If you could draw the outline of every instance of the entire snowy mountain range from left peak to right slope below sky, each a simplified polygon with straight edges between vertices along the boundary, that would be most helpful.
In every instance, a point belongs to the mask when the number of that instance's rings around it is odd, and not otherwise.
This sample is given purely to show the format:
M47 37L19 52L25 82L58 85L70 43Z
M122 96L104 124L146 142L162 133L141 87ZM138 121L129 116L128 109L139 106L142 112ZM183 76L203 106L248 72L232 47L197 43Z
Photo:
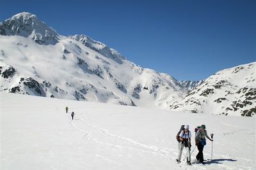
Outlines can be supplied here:
M0 23L0 43L0 91L214 115L256 112L255 62L178 81L89 36L61 36L26 12Z

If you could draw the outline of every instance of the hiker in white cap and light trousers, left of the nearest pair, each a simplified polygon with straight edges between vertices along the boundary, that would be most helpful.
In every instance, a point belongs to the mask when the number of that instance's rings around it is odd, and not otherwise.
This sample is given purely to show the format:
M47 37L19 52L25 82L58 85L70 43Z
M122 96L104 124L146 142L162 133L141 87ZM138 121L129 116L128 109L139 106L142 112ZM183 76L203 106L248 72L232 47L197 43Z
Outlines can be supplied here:
M191 148L191 132L188 130L189 125L184 126L184 130L180 132L179 135L179 155L176 161L180 163L181 155L182 155L182 150L185 146L186 152L187 152L187 164L191 165L191 155L190 155L190 148Z

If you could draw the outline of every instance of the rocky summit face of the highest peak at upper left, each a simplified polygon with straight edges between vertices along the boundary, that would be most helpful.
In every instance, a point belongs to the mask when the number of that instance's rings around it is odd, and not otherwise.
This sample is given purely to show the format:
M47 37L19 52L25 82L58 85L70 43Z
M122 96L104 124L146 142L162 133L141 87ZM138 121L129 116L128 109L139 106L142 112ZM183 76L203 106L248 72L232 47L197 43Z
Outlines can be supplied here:
M42 45L58 43L59 34L44 22L38 20L36 15L22 12L0 23L0 34L3 36L29 37Z

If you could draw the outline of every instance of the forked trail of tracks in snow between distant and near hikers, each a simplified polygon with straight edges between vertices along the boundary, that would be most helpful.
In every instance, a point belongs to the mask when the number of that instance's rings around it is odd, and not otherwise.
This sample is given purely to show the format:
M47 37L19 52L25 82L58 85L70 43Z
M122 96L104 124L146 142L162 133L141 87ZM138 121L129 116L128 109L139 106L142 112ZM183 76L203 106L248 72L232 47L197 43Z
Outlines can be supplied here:
M147 145L144 145L142 143L138 143L136 141L133 141L132 139L124 138L122 136L118 136L116 134L112 134L107 129L104 129L104 128L102 128L100 126L97 126L97 125L90 124L89 122L84 120L84 118L81 118L81 117L78 117L78 116L76 116L76 117L78 119L74 119L74 120L81 120L83 122L83 124L85 124L85 125L87 125L89 127L92 127L94 129L97 129L97 130L103 132L104 134L107 134L111 138L122 139L122 140L128 141L129 143L132 143L134 145L138 145L138 146L141 146L143 148L146 148L146 149L149 149L149 150L153 150L153 152L152 151L143 150L143 149L139 149L139 148L125 147L125 146L120 146L120 145L113 145L111 143L104 143L104 142L100 141L99 139L92 138L92 133L90 133L88 131L84 131L83 129L77 127L77 125L74 124L74 121L70 120L70 124L72 125L72 127L74 127L77 131L80 131L80 132L84 133L84 138L88 139L89 141L93 141L94 143L99 143L101 145L107 145L107 146L115 147L115 148L118 148L118 149L136 150L136 151L144 152L144 153L152 153L154 155L159 155L161 157L170 159L170 155L168 155L169 151L164 150L163 148L157 148L156 146L147 146Z

